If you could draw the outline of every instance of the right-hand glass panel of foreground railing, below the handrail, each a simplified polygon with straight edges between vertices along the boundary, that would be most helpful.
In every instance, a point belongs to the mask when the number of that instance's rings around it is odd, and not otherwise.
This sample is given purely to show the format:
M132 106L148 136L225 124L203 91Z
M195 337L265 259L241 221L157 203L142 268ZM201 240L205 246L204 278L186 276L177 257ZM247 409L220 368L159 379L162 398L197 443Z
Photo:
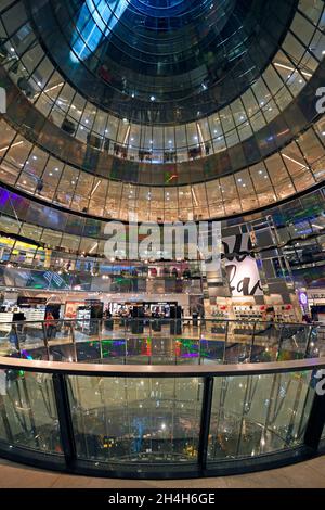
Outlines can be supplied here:
M301 445L314 393L311 373L214 378L208 461Z

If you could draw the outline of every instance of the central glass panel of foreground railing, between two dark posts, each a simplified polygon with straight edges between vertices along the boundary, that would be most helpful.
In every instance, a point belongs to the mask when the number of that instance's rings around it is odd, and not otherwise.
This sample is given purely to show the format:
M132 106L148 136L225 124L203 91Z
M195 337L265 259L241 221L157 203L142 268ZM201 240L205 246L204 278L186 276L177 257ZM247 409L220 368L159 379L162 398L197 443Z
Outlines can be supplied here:
M69 375L77 456L135 462L195 462L200 379Z

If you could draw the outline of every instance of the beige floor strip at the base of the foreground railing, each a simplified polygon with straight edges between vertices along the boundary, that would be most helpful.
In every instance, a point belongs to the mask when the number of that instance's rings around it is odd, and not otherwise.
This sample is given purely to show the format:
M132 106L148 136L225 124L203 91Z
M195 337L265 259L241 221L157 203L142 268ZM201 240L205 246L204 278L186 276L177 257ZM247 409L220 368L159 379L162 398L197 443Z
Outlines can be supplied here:
M0 460L0 488L324 488L325 457L286 468L218 479L140 481L92 479Z

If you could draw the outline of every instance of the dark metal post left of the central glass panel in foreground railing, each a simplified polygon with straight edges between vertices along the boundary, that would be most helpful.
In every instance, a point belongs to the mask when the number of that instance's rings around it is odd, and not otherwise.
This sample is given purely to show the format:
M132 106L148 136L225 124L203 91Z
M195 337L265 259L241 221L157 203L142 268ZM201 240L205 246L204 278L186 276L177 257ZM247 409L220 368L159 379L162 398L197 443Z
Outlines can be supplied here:
M67 383L64 374L53 373L53 388L63 452L67 467L72 467L77 458L77 450Z

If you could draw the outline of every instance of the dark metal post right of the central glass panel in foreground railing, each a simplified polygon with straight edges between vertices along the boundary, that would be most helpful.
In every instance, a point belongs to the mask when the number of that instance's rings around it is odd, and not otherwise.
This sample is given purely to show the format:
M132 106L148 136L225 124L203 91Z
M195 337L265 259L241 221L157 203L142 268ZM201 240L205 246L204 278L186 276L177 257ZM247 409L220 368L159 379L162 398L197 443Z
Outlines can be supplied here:
M197 462L199 470L204 472L207 468L208 442L210 432L211 407L213 397L213 378L208 375L205 379L203 407L200 416L199 442Z

